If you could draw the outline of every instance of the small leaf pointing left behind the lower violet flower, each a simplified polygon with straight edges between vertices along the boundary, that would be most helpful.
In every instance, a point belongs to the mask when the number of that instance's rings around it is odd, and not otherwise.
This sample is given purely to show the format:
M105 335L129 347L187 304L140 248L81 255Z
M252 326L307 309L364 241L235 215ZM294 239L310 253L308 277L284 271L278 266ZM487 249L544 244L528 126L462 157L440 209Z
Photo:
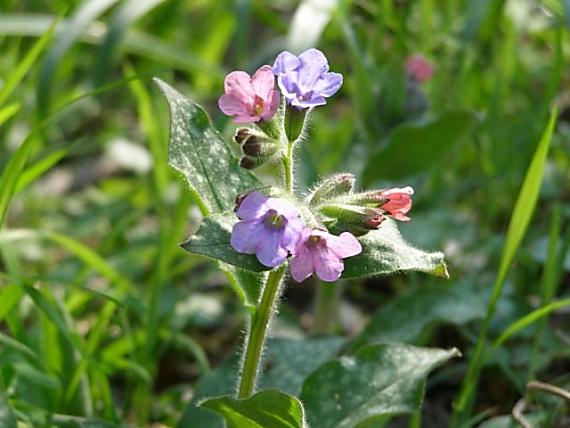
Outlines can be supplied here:
M254 255L238 253L230 245L232 226L237 220L234 213L206 217L196 234L182 244L182 248L189 253L201 254L254 272L269 270Z

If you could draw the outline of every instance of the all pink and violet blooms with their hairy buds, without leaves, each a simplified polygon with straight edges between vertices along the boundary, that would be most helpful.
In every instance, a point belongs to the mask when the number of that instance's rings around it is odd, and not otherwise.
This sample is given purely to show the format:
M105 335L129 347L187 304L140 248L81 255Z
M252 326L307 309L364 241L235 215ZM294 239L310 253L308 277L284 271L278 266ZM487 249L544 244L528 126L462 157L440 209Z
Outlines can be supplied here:
M287 108L272 122L280 103L276 82ZM326 57L317 49L299 56L282 52L272 67L264 65L252 77L243 71L228 74L225 94L218 101L220 109L236 123L256 123L260 128L236 131L234 140L244 154L240 165L251 169L268 159L287 156L282 144L294 140L288 135L289 127L285 131L287 115L306 121L308 116L302 111L326 104L342 82L342 75L329 71ZM324 180L305 201L305 210L289 199L267 197L259 191L239 198L232 248L254 254L269 268L291 257L291 276L297 282L313 274L323 281L337 280L344 270L343 260L363 250L355 235L380 228L385 216L409 220L412 206L411 187L354 194L354 182L351 174Z

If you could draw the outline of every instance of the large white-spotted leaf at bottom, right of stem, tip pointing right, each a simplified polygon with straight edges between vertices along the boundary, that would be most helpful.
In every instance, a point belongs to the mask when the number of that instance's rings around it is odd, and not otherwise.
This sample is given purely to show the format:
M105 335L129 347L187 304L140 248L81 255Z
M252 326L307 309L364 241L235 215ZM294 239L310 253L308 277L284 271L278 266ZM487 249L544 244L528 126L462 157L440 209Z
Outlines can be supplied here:
M382 415L413 413L428 373L459 355L455 348L369 345L330 361L303 384L307 420L319 428L353 428Z

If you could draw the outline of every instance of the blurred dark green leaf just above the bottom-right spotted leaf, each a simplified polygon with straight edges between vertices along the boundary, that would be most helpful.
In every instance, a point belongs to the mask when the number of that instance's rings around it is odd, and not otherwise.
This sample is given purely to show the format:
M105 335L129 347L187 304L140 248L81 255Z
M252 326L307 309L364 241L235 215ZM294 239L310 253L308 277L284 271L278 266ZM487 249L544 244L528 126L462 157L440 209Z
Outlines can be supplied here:
M470 282L412 290L381 307L352 349L364 343L415 341L435 323L465 324L483 317L487 295Z

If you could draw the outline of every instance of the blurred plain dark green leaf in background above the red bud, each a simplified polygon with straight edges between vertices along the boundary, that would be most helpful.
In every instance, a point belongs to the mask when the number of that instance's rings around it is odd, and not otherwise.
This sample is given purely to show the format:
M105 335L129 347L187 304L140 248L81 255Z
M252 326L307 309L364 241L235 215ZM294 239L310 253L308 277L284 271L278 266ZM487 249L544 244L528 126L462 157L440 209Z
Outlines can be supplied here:
M396 180L427 170L440 162L474 123L472 113L450 111L427 123L399 126L388 137L387 146L370 157L364 182Z

